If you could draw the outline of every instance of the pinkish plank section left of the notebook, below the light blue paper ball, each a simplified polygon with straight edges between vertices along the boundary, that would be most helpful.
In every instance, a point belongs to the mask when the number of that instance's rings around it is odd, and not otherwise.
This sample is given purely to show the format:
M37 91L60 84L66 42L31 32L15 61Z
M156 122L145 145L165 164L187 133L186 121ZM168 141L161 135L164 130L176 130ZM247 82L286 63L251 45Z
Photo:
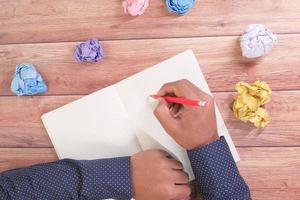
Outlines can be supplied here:
M0 97L0 147L52 147L40 117L80 97Z

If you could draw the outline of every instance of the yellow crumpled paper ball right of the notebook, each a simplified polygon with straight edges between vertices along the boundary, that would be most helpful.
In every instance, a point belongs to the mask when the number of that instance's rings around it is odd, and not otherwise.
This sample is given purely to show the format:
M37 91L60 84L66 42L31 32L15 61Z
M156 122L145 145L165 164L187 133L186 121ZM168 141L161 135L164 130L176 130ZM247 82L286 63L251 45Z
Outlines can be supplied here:
M262 107L271 100L272 95L272 90L266 82L255 81L248 84L241 81L236 84L235 89L237 98L232 108L235 117L260 128L270 123L270 116Z

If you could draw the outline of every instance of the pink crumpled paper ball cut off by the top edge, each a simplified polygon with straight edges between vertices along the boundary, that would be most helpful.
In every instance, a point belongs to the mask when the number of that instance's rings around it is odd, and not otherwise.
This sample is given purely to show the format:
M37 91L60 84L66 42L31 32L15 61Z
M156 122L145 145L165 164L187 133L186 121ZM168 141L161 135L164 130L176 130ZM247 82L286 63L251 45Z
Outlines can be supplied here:
M137 16L144 14L149 6L149 0L124 0L122 5L125 14Z

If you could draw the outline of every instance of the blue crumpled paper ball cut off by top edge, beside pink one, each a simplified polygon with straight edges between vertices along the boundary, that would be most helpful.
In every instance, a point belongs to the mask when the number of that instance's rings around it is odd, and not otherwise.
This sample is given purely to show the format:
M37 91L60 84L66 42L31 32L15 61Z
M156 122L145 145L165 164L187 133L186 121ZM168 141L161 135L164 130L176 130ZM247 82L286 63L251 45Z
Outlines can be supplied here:
M166 0L167 8L172 13L186 14L195 4L196 0Z

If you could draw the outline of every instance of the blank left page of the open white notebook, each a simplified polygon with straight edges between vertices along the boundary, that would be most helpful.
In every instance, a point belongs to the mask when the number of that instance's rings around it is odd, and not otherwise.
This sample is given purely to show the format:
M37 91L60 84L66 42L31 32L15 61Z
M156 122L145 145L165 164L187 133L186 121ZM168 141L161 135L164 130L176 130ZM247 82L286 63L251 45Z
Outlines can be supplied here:
M60 159L98 159L139 152L135 132L114 87L42 116Z

